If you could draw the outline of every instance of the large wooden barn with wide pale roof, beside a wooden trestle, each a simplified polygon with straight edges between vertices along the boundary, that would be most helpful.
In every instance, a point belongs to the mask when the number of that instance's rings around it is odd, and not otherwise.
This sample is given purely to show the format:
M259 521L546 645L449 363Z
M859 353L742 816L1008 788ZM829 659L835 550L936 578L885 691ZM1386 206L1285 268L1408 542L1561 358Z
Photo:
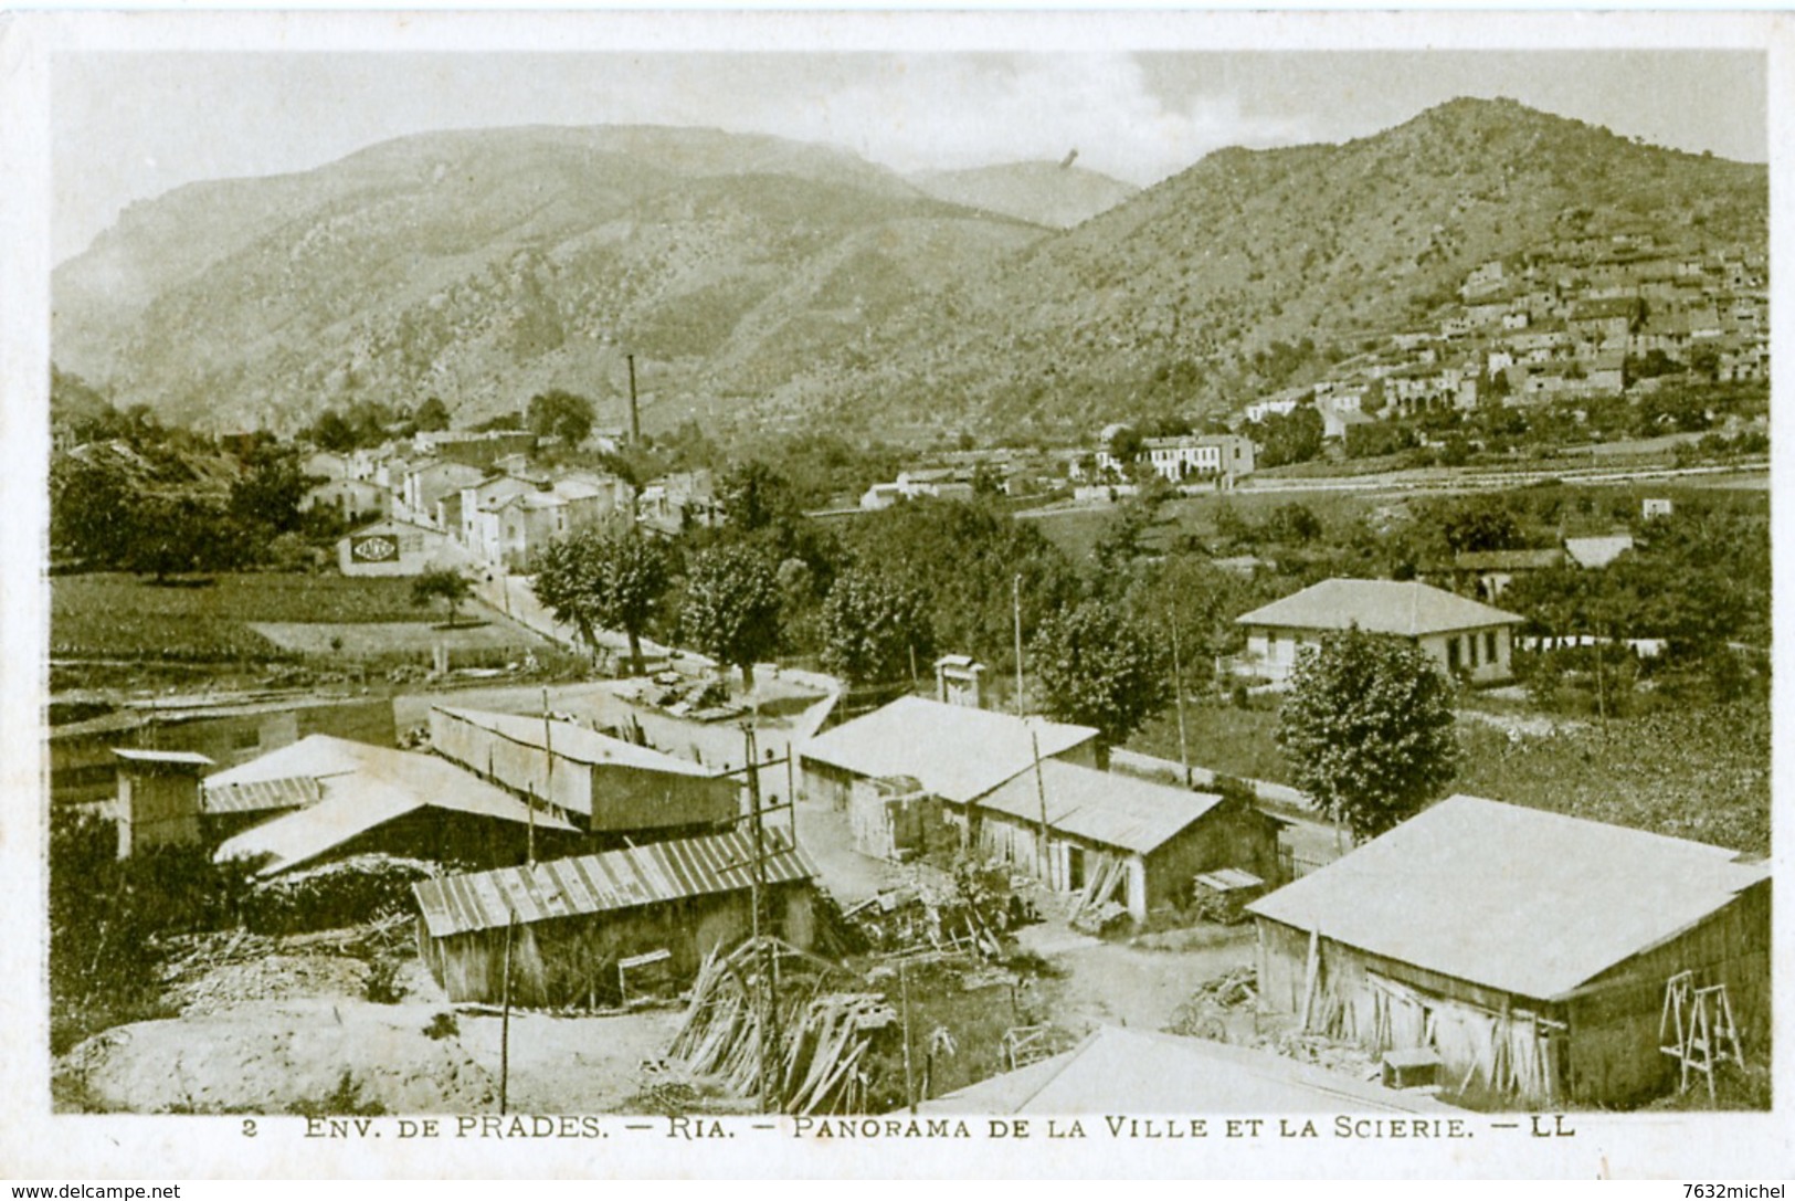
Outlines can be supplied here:
M1519 1104L1669 1088L1682 973L1770 1038L1770 869L1700 842L1458 795L1248 910L1262 1009Z

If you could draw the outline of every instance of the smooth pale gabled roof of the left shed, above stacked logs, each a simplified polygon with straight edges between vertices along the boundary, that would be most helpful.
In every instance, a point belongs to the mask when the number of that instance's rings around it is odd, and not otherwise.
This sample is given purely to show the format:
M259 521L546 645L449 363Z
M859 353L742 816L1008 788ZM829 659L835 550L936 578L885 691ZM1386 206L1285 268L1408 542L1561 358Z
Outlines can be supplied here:
M296 770L298 765L312 770ZM260 874L271 876L422 808L574 831L565 819L542 810L531 815L517 797L436 756L370 747L330 734L311 734L291 747L219 772L206 779L206 788L294 776L318 781L323 799L226 838L217 849L219 862L266 856Z

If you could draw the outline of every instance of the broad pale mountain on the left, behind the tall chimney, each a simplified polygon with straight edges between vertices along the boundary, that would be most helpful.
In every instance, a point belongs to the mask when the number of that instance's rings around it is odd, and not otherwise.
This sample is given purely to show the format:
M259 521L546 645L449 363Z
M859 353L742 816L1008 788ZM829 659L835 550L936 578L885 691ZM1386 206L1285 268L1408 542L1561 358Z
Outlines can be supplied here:
M133 205L54 273L52 346L120 406L214 429L429 395L465 424L553 386L621 418L634 352L671 420L1043 235L781 138L433 133Z

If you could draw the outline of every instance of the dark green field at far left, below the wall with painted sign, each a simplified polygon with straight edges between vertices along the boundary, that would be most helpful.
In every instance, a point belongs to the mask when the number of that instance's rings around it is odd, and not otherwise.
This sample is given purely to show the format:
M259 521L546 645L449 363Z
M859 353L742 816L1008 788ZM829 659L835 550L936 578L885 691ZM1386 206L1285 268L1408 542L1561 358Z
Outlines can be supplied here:
M158 587L129 574L50 580L52 657L214 662L280 659L253 621L386 623L436 614L411 605L409 580L221 574Z

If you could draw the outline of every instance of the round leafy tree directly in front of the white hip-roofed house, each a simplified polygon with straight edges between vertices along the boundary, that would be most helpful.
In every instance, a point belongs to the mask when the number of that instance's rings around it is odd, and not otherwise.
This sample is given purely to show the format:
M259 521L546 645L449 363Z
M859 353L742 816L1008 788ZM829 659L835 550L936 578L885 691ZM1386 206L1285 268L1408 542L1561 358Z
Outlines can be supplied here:
M1296 785L1355 840L1413 817L1458 774L1447 679L1413 643L1359 628L1298 655L1276 740Z

